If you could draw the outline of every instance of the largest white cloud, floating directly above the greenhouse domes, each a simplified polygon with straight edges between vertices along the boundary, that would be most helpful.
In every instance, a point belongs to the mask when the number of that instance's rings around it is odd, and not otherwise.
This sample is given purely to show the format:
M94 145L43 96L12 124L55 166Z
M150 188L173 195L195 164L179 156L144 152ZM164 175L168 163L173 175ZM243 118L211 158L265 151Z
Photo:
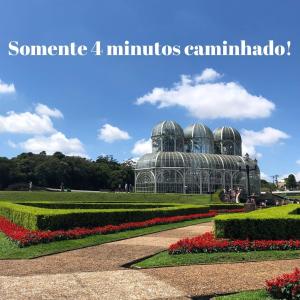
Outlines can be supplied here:
M275 109L270 100L250 94L236 82L208 82L220 78L213 69L196 76L181 76L171 88L154 88L138 98L137 105L150 103L158 108L179 106L193 117L204 119L256 119L269 117Z

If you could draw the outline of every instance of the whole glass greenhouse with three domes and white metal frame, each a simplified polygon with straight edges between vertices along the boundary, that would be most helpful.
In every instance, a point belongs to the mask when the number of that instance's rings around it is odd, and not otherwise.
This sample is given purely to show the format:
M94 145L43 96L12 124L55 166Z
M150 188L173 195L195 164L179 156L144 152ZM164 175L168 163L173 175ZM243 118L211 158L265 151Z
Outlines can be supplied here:
M152 130L152 153L135 168L136 192L211 193L218 189L260 193L257 161L241 156L242 139L231 127L214 133L203 124L184 131L176 122L164 121Z

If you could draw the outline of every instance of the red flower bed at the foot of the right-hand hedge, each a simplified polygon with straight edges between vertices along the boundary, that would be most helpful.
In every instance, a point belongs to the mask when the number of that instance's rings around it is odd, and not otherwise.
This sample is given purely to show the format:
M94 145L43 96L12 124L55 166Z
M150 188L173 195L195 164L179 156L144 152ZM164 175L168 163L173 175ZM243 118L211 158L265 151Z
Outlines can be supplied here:
M170 245L169 254L212 253L212 252L247 252L262 250L300 249L300 240L225 240L215 239L207 232L193 238L186 238Z

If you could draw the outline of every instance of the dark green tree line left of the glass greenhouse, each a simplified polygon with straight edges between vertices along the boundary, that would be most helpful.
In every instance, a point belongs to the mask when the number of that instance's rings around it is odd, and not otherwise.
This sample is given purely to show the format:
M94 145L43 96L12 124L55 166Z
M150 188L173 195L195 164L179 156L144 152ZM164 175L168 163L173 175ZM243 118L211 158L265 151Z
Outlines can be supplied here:
M65 188L117 190L134 184L132 161L118 162L112 156L90 160L66 156L61 152L47 155L22 153L13 158L0 157L0 189Z

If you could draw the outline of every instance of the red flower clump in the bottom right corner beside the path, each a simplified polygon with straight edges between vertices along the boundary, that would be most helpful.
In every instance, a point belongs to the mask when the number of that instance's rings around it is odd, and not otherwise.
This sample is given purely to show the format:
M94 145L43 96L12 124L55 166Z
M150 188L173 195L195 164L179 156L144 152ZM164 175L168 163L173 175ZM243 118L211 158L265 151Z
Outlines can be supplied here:
M296 268L293 273L267 280L266 285L267 291L275 299L300 299L300 269Z

